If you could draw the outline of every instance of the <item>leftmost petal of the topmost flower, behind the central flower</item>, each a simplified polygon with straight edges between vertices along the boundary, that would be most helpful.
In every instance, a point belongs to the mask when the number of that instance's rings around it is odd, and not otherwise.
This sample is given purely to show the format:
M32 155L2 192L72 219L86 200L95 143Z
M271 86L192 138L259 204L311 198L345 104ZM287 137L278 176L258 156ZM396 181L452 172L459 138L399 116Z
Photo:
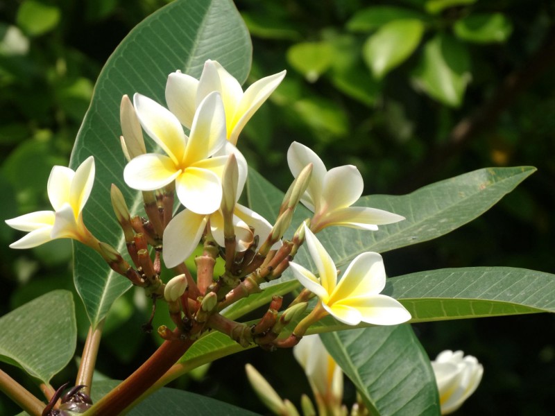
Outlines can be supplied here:
M166 103L182 125L191 128L196 110L198 80L185 73L172 72L166 83Z

